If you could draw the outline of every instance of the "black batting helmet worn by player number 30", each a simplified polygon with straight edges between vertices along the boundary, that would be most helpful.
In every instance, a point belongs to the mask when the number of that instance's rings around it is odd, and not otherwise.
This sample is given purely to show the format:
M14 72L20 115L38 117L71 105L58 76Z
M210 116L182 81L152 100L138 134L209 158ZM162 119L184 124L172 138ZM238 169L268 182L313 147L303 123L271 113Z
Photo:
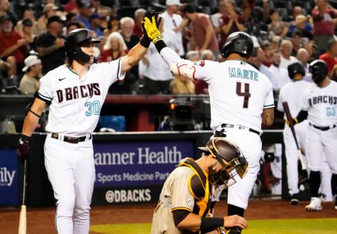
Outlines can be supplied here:
M90 56L81 50L81 46L88 43L97 44L100 43L100 41L93 38L93 34L90 30L72 30L65 38L65 51L67 52L67 56L71 60L74 59L80 63L88 63Z

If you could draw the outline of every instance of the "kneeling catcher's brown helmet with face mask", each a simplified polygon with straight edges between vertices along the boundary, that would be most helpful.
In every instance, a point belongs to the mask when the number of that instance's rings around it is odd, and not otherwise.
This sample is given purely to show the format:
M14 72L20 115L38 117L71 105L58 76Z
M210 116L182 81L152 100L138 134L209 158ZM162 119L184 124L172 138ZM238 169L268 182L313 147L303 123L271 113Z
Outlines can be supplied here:
M209 182L214 185L225 185L228 187L235 183L234 176L237 174L243 178L247 172L248 162L242 155L239 147L224 137L214 137L206 143L206 147L199 147L199 150L211 154L220 162L223 169L209 178Z

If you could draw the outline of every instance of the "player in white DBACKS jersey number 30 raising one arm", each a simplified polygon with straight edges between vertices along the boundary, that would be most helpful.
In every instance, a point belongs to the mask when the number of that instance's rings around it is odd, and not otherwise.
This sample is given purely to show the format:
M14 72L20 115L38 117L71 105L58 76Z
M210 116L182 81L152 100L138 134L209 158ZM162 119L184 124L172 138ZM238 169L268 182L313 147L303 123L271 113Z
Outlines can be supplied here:
M40 79L18 142L18 157L25 160L29 138L44 108L49 106L45 166L56 200L58 233L89 233L90 204L95 181L94 131L109 86L145 55L150 40L143 37L128 55L109 63L93 64L91 31L73 30L65 39L68 63Z

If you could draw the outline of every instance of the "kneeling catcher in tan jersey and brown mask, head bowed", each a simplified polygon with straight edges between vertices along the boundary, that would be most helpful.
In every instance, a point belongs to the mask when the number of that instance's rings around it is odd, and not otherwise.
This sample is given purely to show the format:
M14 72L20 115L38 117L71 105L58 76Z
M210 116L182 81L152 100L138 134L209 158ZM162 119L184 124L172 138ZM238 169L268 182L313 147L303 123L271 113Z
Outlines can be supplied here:
M227 233L225 228L247 228L242 216L212 217L211 192L235 183L248 163L237 145L212 138L198 160L185 158L166 179L152 219L152 234Z

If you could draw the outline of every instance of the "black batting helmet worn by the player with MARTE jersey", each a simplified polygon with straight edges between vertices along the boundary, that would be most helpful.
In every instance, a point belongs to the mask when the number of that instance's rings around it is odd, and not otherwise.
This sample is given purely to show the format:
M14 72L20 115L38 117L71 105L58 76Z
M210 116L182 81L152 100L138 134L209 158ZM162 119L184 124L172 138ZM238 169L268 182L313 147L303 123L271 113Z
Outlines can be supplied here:
M233 32L225 44L221 47L221 55L227 58L231 53L238 53L242 57L249 58L253 53L253 39L246 32Z

